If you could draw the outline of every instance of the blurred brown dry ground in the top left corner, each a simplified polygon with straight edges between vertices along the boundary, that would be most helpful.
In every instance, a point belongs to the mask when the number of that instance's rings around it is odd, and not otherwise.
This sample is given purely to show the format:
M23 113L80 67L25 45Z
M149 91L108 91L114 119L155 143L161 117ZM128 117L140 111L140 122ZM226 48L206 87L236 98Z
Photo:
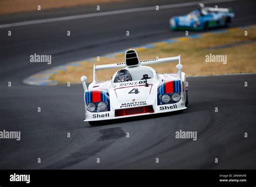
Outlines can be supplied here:
M122 0L1 0L0 14L36 11L38 5L41 6L41 10L45 10L117 1Z

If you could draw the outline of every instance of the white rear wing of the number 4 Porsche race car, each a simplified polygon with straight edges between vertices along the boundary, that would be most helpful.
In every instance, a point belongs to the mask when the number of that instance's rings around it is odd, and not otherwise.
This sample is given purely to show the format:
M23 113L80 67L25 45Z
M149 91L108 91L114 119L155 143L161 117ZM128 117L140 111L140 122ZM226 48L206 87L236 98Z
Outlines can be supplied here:
M181 80L181 69L183 66L181 65L181 57L179 56L173 56L173 57L166 57L162 59L151 59L151 60L141 60L140 65L146 66L150 64L157 64L157 63L165 63L165 62L175 62L178 61L176 68L179 71L179 79ZM96 71L97 70L103 70L103 69L112 69L112 68L125 68L126 64L125 62L120 63L112 63L112 64L105 64L105 65L98 65L93 67L93 81L96 82Z

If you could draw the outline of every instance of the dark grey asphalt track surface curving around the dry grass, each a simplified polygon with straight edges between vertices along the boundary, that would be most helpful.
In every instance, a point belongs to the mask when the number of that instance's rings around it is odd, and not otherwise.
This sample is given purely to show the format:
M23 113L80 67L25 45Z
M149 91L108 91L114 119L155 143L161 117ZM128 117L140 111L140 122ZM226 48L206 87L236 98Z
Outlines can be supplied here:
M103 7L115 10L154 4L142 1ZM255 1L218 5L233 8L236 18L231 26L255 24ZM183 113L102 126L83 121L82 85L22 83L37 71L65 62L182 36L183 32L169 30L169 18L193 9L190 6L0 29L1 131L21 131L21 141L0 140L0 169L256 169L255 74L188 78L190 104ZM31 14L34 19L42 19L84 10L90 13L92 8ZM29 13L23 15L2 16L0 21L4 24L31 19ZM12 37L6 36L9 30ZM71 37L66 37L68 30ZM130 37L126 37L126 31L130 31ZM33 53L52 54L52 64L31 64L29 55ZM12 87L7 86L9 81ZM41 107L40 113L37 107ZM197 131L197 141L176 139L179 130ZM245 132L248 138L244 138ZM38 157L41 163L37 163ZM214 163L216 157L219 163ZM96 163L97 158L100 163Z

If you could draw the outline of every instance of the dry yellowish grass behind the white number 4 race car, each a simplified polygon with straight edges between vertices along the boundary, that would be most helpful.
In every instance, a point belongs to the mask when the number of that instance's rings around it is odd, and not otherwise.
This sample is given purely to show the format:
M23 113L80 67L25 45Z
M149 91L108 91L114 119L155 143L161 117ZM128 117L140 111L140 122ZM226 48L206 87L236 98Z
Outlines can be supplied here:
M169 57L181 54L181 63L186 75L214 75L226 73L247 73L256 72L256 45L250 44L235 45L227 48L208 49L208 47L232 44L241 41L255 41L256 26L247 29L248 36L244 36L241 28L233 29L227 33L209 34L205 37L183 40L173 44L164 44L159 47L138 51L140 60L154 59L156 56ZM227 55L227 64L207 63L205 56L210 53L215 55ZM95 59L96 60L96 59ZM102 57L99 62L84 62L83 66L70 67L67 71L52 76L52 80L61 83L79 83L80 77L86 75L88 82L92 81L93 64L108 64L124 61L124 54L117 57ZM163 63L152 65L159 73L176 72L176 63ZM99 80L109 80L117 69L97 71Z

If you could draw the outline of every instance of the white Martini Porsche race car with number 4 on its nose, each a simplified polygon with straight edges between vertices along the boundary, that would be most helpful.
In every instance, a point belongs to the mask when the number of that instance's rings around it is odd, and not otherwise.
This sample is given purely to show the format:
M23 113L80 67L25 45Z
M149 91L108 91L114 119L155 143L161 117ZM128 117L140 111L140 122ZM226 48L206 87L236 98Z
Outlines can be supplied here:
M160 74L145 66L173 61L179 62L177 73ZM96 71L111 68L120 70L114 73L112 80L97 82ZM93 82L88 88L87 77L81 77L85 102L84 121L95 125L102 120L186 109L186 76L182 68L180 55L139 61L134 49L125 52L125 62L94 66Z

